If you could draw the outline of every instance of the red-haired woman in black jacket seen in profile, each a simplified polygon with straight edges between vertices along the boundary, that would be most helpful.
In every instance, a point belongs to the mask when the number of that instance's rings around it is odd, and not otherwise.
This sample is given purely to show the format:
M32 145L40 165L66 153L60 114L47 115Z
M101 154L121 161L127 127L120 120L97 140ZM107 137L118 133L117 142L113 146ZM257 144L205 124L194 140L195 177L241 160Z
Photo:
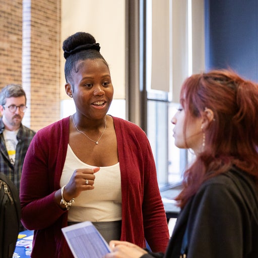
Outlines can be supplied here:
M192 149L165 254L110 241L105 258L258 257L258 86L235 72L192 75L180 92L175 145Z

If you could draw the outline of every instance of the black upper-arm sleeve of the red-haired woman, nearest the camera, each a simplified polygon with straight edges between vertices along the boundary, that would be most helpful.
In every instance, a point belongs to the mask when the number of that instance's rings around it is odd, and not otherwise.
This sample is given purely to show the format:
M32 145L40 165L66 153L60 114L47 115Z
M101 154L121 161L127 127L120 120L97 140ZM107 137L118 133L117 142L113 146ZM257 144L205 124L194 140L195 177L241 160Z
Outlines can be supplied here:
M211 184L197 194L192 208L187 257L241 258L242 214L247 212L237 193L224 184Z

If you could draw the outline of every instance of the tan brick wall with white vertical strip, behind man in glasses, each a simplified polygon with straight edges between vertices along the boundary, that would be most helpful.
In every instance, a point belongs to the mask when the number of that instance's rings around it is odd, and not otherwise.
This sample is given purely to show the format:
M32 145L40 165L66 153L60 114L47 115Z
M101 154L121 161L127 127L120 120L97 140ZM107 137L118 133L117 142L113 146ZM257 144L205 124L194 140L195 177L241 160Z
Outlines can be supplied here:
M60 115L60 0L0 0L0 87L22 84L33 130Z

